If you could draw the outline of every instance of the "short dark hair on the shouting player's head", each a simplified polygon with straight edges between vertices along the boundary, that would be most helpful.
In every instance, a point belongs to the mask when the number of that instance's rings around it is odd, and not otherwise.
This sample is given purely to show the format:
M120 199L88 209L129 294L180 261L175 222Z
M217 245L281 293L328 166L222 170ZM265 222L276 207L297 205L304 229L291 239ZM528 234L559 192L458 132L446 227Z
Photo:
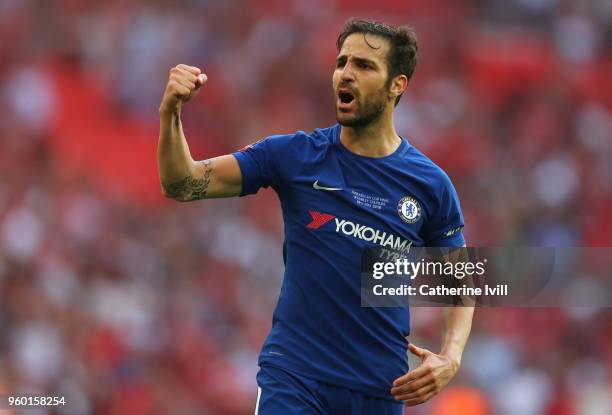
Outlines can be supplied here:
M414 68L418 61L417 38L414 30L409 26L393 27L382 22L371 22L360 19L350 19L346 22L344 30L338 36L336 47L338 51L349 35L353 33L370 33L387 39L390 43L389 54L387 55L387 67L389 76L387 85L397 75L406 75L408 80L412 78ZM399 102L401 95L395 99L395 105Z

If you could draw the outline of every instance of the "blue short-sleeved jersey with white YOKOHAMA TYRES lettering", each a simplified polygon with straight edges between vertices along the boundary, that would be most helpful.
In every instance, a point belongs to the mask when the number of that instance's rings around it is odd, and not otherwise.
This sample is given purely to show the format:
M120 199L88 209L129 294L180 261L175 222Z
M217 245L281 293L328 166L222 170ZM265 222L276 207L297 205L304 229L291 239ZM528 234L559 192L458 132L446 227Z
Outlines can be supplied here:
M448 176L408 141L386 157L360 156L340 128L234 153L241 195L271 186L285 223L285 275L259 364L392 400L408 370L409 313L361 307L362 252L462 246L463 216Z

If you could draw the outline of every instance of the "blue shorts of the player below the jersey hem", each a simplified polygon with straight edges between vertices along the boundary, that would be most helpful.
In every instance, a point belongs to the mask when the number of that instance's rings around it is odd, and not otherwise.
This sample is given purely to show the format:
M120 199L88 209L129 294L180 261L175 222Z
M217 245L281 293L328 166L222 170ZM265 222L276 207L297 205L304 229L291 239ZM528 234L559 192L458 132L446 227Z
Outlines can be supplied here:
M401 415L402 402L374 398L274 366L257 374L255 415Z

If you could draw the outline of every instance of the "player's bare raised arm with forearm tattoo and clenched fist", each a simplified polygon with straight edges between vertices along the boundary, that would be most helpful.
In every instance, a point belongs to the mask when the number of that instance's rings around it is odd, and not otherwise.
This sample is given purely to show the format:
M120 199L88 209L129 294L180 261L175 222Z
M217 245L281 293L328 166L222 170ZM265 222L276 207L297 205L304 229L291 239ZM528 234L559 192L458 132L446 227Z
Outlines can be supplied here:
M238 196L242 174L232 155L194 161L181 125L181 109L206 82L199 68L178 65L170 76L159 107L157 168L166 197L191 200Z

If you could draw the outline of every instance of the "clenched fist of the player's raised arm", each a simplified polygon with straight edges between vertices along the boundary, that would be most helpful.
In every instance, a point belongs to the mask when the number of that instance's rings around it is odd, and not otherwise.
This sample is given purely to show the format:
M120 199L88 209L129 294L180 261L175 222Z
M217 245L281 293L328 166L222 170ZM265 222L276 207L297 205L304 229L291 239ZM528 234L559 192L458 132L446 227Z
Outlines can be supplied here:
M181 64L170 69L160 111L174 112L179 109L183 102L196 96L207 79L200 68L195 66Z

